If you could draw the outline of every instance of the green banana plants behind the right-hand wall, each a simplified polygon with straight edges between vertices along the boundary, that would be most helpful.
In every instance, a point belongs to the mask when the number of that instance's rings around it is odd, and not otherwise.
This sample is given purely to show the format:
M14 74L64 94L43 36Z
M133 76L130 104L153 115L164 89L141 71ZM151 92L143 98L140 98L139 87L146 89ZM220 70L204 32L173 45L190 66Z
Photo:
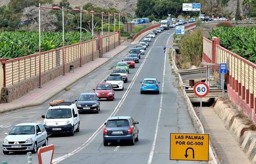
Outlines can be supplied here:
M239 56L256 63L256 27L217 27L209 32L220 38L220 45Z

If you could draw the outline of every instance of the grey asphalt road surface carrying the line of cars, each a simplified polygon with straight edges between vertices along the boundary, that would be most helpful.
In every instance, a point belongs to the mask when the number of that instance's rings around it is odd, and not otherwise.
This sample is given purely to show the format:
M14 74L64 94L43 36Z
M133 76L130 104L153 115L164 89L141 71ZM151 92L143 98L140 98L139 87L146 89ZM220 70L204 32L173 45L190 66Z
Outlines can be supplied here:
M150 46L141 55L140 63L130 68L128 82L124 91L115 91L114 101L101 101L99 114L79 114L80 131L74 136L49 136L49 144L55 145L53 162L55 164L167 164L169 160L170 132L196 133L191 123L187 105L178 93L171 74L168 54L163 53L163 46L171 47L175 30L165 30L151 39ZM167 44L168 41L168 44ZM134 47L134 45L128 45ZM96 84L103 81L113 66L127 56L128 51L119 54L104 66L70 86L70 91L63 91L53 99L75 100L80 93L93 92ZM140 81L143 78L157 78L160 81L160 94L140 94ZM13 125L23 122L43 123L41 115L46 113L47 102L40 106L23 108L0 114L0 142L5 132ZM132 116L140 124L139 141L134 146L127 144L103 145L103 125L110 116ZM2 144L0 145L2 148ZM33 164L38 163L37 155L32 154ZM26 164L26 153L0 153L0 162L8 164ZM198 163L182 161L182 164Z

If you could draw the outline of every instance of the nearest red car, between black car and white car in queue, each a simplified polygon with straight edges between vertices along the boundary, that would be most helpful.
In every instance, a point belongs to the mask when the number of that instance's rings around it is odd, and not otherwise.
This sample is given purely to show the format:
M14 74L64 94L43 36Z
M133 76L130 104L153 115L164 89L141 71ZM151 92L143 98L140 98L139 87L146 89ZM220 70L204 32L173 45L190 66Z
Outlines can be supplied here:
M115 92L111 83L99 83L95 89L93 89L100 100L114 100Z

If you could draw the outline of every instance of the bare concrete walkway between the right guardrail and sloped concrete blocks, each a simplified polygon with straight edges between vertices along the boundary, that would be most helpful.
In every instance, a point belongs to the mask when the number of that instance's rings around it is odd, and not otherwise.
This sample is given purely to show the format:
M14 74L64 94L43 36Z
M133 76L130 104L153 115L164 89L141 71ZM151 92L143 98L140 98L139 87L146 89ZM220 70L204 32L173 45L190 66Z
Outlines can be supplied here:
M250 164L249 159L213 108L202 108L202 123L222 164Z

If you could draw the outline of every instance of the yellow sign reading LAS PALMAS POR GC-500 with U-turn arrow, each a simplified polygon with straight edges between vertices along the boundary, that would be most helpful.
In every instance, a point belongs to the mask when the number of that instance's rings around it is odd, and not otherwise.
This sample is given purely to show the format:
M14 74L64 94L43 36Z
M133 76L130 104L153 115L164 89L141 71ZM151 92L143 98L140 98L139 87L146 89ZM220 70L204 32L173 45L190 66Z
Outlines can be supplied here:
M209 161L209 134L170 133L170 160Z

